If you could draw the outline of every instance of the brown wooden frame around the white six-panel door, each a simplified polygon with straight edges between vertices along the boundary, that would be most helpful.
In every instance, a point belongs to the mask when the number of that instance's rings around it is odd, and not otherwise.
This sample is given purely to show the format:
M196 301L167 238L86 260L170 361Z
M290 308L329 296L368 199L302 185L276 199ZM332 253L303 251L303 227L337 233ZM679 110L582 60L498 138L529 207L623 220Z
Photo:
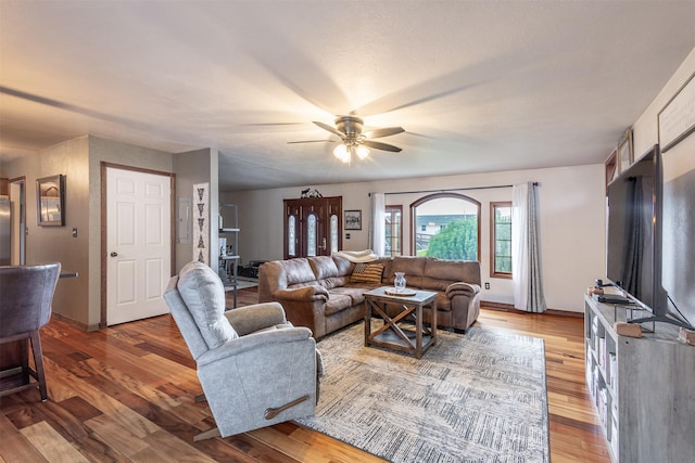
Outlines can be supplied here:
M109 198L108 198L108 194L106 194L106 171L109 168L114 168L114 169L121 169L121 170L131 170L131 171L136 171L136 172L141 172L141 173L152 173L155 176L162 176L162 177L168 177L169 181L170 181L170 188L169 188L169 202L170 202L170 208L169 208L169 222L170 222L170 237L169 237L169 261L170 261L170 269L169 269L169 274L174 274L174 272L176 271L176 173L173 172L164 172L162 170L153 170L153 169L146 169L146 168L141 168L141 167L134 167L134 166L125 166L123 164L114 164L114 163L106 163L104 160L102 160L100 163L100 170L101 170L101 243L100 243L100 261L101 261L101 281L99 282L101 291L101 320L99 321L99 329L105 329L108 327L106 324L106 304L108 304L108 294L106 294L106 288L108 288L108 242L106 242L106 237L108 237L108 233L106 233L106 205L109 204Z

